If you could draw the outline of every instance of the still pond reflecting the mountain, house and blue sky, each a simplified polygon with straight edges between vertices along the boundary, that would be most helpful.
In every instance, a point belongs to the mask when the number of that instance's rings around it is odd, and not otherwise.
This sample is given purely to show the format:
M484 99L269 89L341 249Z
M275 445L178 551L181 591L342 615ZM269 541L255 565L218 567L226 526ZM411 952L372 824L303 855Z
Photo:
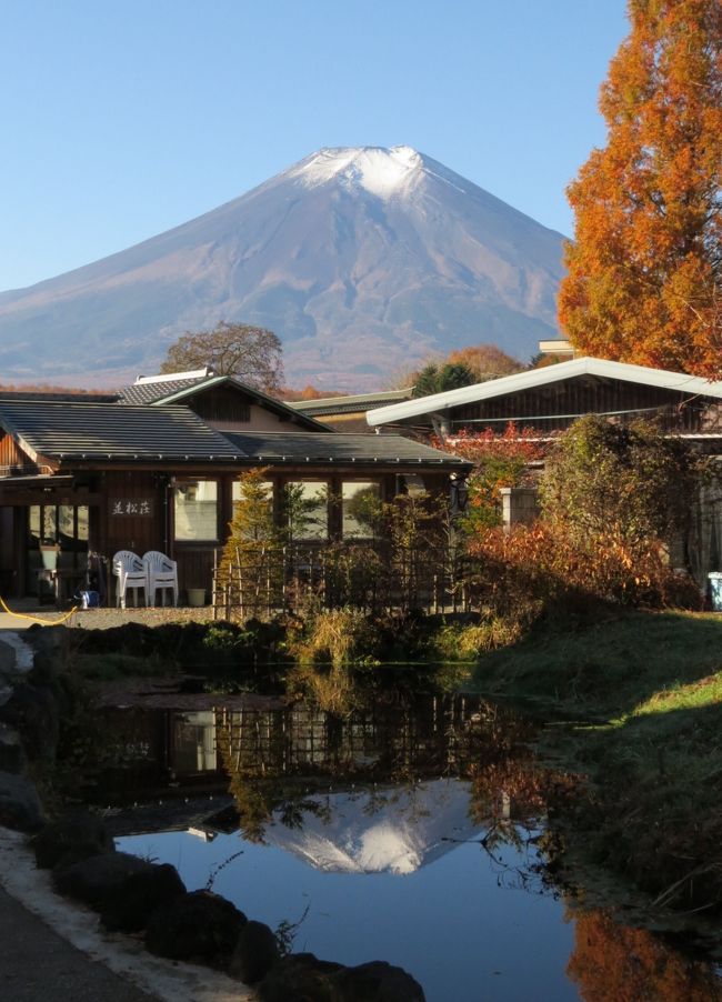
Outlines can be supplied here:
M294 952L389 961L429 1002L720 996L711 965L553 885L546 796L570 778L534 764L523 718L393 687L343 714L242 694L150 702L106 710L96 790L118 846L172 863Z

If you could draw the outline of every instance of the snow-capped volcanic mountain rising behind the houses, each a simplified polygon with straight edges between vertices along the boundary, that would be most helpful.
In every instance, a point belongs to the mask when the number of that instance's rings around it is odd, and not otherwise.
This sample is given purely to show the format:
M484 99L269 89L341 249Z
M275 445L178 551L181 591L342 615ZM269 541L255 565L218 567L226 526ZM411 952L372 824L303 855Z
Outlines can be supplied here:
M126 382L187 330L281 338L287 381L371 390L430 353L553 337L561 234L409 147L329 149L112 257L0 294L3 381Z

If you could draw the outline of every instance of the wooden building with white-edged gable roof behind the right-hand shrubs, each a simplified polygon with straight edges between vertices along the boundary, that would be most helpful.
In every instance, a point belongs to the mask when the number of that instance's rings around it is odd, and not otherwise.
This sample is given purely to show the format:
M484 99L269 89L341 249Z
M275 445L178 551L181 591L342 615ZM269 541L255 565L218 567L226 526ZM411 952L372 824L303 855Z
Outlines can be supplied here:
M581 358L444 393L370 410L371 428L435 432L503 432L510 422L553 438L584 414L629 422L656 418L671 435L719 457L722 472L722 381L683 372ZM715 460L716 462L716 460ZM722 475L702 489L685 550L700 584L722 570Z

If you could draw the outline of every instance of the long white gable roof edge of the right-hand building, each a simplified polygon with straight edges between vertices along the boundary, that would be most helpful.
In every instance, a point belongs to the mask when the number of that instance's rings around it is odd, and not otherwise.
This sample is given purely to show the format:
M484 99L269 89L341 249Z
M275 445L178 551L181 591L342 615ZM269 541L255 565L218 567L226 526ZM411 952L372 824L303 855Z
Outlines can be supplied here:
M722 382L710 382L699 375L688 375L685 372L668 372L664 369L648 369L645 365L630 365L625 362L584 358L573 359L570 362L558 362L555 365L548 365L544 369L518 372L514 375L503 375L500 379L490 379L487 382L462 387L459 390L432 393L405 403L382 407L370 411L367 414L367 421L371 425L394 424L420 414L442 413L451 408L477 403L480 400L491 400L494 397L505 397L509 393L519 393L522 390L550 385L581 375L596 375L601 379L658 387L678 393L722 399Z

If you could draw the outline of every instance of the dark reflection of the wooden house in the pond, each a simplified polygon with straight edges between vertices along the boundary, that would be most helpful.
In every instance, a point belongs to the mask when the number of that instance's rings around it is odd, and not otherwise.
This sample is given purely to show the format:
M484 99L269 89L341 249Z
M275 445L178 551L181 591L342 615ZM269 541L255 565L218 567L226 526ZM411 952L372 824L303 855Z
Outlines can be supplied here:
M198 709L184 711L109 711L114 764L102 795L136 800L169 784L224 789L227 773L337 782L471 776L524 737L518 720L473 697L425 695L405 705L379 699L343 718L305 703L259 709L258 698L252 708L235 698L231 709L210 700L199 695Z

